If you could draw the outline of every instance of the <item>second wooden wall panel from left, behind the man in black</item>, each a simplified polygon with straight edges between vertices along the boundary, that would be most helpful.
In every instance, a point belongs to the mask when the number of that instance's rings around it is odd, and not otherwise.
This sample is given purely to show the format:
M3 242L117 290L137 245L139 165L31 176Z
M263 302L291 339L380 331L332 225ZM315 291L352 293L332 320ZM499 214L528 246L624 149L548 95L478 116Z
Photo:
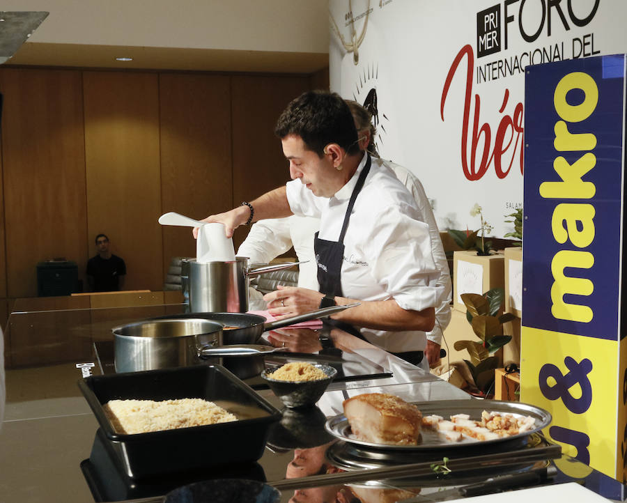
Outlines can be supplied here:
M87 228L127 267L124 288L161 290L162 234L157 74L84 72Z

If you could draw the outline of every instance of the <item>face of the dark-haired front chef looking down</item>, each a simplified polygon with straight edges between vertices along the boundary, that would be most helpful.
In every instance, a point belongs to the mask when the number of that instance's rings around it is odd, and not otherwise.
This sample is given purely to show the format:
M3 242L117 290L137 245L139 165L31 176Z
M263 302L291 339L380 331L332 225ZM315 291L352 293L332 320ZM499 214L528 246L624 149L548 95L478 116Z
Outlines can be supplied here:
M333 167L331 155L318 157L313 150L308 150L304 141L296 134L288 134L281 140L283 153L290 163L292 180L299 178L316 196L331 197L343 183L339 171Z

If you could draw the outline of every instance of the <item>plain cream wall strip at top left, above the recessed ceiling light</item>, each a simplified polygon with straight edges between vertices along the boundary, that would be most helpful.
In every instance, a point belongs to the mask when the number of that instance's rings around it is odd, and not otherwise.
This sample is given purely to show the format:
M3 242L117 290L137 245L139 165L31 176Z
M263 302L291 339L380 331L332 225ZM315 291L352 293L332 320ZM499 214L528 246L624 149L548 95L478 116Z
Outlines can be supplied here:
M6 0L1 9L50 13L32 42L329 50L327 0Z

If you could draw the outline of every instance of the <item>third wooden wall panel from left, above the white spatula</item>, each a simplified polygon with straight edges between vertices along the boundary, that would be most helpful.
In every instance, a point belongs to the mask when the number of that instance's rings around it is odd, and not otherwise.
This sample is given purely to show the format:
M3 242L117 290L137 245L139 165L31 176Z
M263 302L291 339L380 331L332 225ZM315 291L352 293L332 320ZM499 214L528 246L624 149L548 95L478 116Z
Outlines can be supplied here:
M160 75L163 212L202 219L233 206L230 77ZM196 256L189 227L164 226L163 274L171 258Z

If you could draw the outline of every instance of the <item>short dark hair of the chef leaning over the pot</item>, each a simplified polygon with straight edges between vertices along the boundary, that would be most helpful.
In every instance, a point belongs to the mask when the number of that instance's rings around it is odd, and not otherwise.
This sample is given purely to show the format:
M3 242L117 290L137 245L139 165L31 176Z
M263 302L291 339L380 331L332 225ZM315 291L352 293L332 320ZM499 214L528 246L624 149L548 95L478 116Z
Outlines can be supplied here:
M348 155L359 152L357 130L346 102L337 93L307 91L283 111L274 134L284 139L300 136L309 150L323 157L328 144L338 144Z

